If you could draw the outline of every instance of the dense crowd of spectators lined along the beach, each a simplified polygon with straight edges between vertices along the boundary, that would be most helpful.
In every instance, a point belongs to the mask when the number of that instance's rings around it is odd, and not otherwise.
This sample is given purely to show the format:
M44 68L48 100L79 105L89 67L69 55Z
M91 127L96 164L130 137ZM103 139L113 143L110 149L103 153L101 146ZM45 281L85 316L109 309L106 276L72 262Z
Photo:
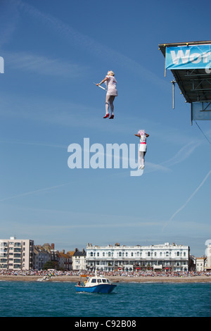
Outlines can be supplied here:
M92 276L95 272L87 271L60 271L60 270L0 270L0 276L80 276L88 275ZM153 271L153 270L139 270L134 272L125 272L125 271L113 271L105 272L98 271L98 275L107 276L107 277L196 277L196 276L211 276L211 271Z

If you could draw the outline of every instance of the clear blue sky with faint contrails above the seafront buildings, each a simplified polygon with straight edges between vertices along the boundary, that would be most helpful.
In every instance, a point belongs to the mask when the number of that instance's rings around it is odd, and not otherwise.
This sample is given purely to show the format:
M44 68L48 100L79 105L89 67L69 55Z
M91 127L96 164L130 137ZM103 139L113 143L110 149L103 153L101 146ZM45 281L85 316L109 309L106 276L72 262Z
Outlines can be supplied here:
M162 244L205 254L210 239L210 144L191 106L164 77L158 44L210 40L198 1L1 0L1 238L56 249ZM182 11L181 11L182 8ZM196 24L197 23L197 24ZM115 119L93 85L115 72ZM210 121L198 121L211 139ZM146 169L70 169L68 146L134 144ZM138 139L138 140L137 140Z

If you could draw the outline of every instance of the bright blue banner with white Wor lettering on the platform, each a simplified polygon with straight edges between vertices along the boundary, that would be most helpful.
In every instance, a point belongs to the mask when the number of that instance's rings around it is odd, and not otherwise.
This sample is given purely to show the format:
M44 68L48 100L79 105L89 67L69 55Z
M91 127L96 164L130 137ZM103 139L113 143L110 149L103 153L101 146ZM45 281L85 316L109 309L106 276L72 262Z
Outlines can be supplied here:
M211 44L166 47L165 68L209 70L211 68Z

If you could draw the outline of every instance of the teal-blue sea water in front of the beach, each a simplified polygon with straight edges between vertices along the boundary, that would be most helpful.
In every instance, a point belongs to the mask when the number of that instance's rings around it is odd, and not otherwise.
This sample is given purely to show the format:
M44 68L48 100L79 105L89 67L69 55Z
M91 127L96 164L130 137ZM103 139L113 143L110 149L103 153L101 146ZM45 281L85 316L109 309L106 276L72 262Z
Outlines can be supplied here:
M210 317L211 282L118 282L110 294L74 282L0 282L0 317Z

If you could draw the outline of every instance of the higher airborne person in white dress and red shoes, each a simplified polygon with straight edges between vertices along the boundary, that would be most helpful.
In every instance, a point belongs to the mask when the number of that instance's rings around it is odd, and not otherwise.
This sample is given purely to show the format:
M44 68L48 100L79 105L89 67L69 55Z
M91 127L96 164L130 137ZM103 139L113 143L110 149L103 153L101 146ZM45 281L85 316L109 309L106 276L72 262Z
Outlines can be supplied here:
M104 78L104 80L102 80L100 83L96 84L96 86L103 84L103 82L105 82L106 87L107 87L107 93L106 93L106 115L103 118L108 118L109 117L109 113L108 113L108 109L109 109L109 105L110 105L110 111L111 111L111 115L110 115L110 119L114 118L114 113L113 113L113 101L115 99L115 96L117 96L117 81L115 79L115 74L113 73L113 71L108 71L108 74L106 75L106 77Z

